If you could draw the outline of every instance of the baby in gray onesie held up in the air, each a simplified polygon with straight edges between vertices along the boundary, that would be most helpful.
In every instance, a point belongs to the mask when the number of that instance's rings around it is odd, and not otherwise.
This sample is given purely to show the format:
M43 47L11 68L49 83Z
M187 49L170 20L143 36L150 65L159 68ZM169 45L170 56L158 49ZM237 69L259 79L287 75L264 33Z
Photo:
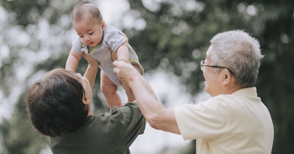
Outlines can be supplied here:
M108 106L122 106L122 101L117 93L118 86L123 86L128 97L128 102L135 100L131 88L122 83L117 74L113 72L113 57L111 50L116 52L117 60L123 60L132 64L141 75L144 70L141 67L138 56L127 44L126 37L116 27L108 25L103 21L98 8L89 2L77 4L73 9L73 26L77 37L73 39L73 47L66 61L66 69L76 71L83 52L99 61L100 89Z

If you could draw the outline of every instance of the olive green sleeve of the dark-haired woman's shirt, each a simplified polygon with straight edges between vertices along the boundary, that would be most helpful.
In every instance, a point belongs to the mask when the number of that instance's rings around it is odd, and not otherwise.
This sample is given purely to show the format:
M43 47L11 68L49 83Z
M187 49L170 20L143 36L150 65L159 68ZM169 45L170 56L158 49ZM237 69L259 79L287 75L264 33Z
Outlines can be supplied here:
M126 103L123 107L115 106L111 110L110 129L115 143L122 150L126 150L145 130L143 117L137 102Z

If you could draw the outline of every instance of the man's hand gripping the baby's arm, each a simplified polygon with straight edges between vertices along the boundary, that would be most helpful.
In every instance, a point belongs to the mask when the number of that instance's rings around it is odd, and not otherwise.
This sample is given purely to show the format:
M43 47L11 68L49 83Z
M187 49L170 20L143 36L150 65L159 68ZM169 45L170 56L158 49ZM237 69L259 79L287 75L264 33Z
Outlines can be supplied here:
M123 60L114 61L112 64L113 66L115 66L113 71L117 74L120 81L127 85L129 85L130 80L140 75L139 72L132 65L127 64Z

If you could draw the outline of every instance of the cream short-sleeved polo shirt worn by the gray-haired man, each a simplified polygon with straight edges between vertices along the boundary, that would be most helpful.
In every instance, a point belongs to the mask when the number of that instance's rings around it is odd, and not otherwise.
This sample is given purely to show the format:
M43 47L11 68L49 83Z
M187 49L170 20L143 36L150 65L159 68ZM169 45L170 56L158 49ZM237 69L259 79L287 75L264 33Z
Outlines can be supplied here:
M174 108L184 140L197 154L270 154L273 122L255 87Z

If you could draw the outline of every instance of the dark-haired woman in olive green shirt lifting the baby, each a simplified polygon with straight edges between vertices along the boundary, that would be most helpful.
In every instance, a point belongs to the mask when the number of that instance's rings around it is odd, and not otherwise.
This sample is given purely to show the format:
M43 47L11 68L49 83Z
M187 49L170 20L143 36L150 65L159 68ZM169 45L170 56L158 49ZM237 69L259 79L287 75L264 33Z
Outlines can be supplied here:
M99 62L84 55L84 76L65 69L49 71L28 89L27 111L53 153L128 154L144 133L145 118L137 102L94 116L92 87Z

